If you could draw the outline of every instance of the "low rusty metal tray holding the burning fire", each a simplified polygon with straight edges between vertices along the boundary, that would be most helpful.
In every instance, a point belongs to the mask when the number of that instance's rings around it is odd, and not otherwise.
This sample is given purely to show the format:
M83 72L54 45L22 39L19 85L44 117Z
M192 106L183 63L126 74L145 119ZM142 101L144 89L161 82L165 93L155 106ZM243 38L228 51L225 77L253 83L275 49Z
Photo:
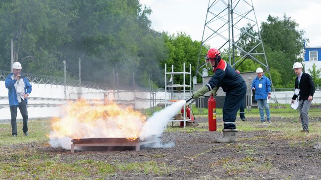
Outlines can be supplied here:
M139 151L140 146L144 144L152 144L159 142L158 138L152 138L147 141L140 141L139 138L135 140L130 140L126 138L83 138L83 139L73 139L71 144L71 152L75 152L75 146L135 146L135 150Z

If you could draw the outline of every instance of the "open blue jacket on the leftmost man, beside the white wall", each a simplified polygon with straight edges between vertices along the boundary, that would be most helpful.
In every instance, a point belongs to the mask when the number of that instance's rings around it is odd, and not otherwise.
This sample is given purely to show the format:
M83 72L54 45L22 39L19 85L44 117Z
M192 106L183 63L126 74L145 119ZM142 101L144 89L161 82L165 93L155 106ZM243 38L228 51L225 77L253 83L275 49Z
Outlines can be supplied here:
M14 87L14 84L17 82L17 80L15 79L11 79L12 76L12 72L5 78L5 87L8 88L9 92L8 92L8 98L9 98L9 106L18 106L19 102L17 100L17 93L16 93L16 88ZM23 75L21 73L21 75ZM30 94L31 93L31 84L29 82L29 80L25 77L23 79L23 81L25 82L25 94ZM28 104L28 98L25 100L26 104Z

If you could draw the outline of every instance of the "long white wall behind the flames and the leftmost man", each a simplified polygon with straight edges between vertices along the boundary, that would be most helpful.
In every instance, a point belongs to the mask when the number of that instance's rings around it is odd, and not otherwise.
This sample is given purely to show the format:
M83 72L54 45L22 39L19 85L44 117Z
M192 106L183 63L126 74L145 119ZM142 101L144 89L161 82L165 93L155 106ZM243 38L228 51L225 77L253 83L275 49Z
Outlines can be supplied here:
M64 86L50 84L32 84L32 92L28 97L28 115L29 118L52 117L59 116L61 105L69 100L76 100L79 95L79 88L66 86L66 98ZM129 92L129 91L113 91L92 88L81 88L81 98L90 100L98 100L104 102L104 96L107 99L114 100L117 103L132 106L133 108L150 108L149 92ZM167 93L167 97L170 94ZM135 98L136 97L136 98ZM157 92L157 103L163 101L164 92ZM8 102L8 89L5 88L4 81L0 81L0 119L10 119L10 108ZM20 112L17 118L22 118Z

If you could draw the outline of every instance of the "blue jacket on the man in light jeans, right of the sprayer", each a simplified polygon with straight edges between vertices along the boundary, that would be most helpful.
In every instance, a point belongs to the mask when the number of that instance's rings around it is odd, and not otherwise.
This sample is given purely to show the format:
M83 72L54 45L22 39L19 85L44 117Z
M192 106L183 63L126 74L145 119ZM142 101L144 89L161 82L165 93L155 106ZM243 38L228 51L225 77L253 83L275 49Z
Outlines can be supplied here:
M262 84L262 87L259 88L259 84ZM271 81L265 75L262 76L261 80L256 76L252 82L252 88L255 88L255 100L267 99L268 94L271 93Z

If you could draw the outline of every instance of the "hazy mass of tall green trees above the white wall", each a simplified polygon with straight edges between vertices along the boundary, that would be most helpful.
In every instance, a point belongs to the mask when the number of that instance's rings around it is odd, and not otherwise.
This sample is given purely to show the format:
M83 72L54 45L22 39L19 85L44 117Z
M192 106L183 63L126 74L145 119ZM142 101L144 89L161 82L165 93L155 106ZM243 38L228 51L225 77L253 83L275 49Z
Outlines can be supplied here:
M113 86L163 85L165 36L151 29L151 9L139 0L2 0L0 69L10 69L10 39L24 72L61 76ZM148 78L147 78L148 77Z

